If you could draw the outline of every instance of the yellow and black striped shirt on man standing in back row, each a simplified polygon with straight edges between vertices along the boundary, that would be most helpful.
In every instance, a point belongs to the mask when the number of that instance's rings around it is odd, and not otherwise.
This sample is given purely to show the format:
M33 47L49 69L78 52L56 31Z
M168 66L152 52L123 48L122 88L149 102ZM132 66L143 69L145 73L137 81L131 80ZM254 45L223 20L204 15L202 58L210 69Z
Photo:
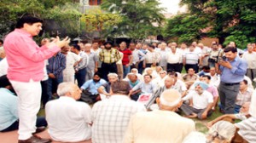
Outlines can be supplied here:
M113 48L110 50L102 49L99 56L100 56L100 60L102 62L108 63L108 64L115 63L118 60L120 60L119 51L117 49L113 49Z

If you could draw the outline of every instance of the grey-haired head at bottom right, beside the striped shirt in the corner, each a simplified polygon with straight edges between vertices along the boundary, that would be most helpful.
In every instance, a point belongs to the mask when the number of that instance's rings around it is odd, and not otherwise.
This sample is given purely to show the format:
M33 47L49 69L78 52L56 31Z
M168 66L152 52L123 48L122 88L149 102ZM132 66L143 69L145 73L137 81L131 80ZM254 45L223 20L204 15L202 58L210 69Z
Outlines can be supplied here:
M211 142L215 138L230 141L235 133L236 126L233 123L227 121L218 121L218 123L214 123L212 128L209 129L208 136L212 136L212 139L207 140L207 142Z

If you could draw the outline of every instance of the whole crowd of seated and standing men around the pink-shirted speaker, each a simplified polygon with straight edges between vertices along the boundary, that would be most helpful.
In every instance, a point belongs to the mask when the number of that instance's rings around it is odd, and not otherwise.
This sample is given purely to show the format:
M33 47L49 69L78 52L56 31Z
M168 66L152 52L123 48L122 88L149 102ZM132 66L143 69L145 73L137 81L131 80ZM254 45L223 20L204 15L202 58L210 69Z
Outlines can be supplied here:
M41 44L48 42L46 38ZM177 43L67 45L45 60L41 85L46 120L38 117L37 132L48 126L50 137L63 142L253 142L255 49L255 43L243 51L234 42L226 49L216 42L211 48L195 42L189 48L185 43L180 48ZM8 63L0 51L0 130L5 132L18 129L19 117L15 90L6 77ZM232 65L236 58L245 64ZM231 64L221 63L226 60ZM231 72L221 69L225 67ZM221 77L231 73L233 79ZM236 74L241 82L224 82L236 81ZM222 92L225 86L237 90L236 99ZM217 108L224 116L207 123L209 134L196 133L189 118L206 119ZM234 119L241 122L233 124Z

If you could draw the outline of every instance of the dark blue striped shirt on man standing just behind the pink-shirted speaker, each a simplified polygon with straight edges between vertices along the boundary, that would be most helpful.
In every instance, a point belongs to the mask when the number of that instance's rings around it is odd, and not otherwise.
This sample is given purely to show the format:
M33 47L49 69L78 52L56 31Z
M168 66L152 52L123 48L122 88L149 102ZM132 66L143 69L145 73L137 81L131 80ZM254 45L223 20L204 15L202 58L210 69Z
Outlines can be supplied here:
M66 68L66 55L59 52L48 60L47 73L53 73L56 78L63 78L63 70Z

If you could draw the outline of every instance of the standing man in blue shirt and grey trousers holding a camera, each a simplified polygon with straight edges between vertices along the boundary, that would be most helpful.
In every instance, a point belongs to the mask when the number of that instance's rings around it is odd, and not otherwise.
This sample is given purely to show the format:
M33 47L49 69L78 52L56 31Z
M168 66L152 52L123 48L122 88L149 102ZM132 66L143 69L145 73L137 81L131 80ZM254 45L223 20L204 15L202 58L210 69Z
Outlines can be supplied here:
M247 72L247 62L237 55L235 47L224 49L225 59L219 60L216 68L220 73L218 94L225 114L233 114L240 82Z

